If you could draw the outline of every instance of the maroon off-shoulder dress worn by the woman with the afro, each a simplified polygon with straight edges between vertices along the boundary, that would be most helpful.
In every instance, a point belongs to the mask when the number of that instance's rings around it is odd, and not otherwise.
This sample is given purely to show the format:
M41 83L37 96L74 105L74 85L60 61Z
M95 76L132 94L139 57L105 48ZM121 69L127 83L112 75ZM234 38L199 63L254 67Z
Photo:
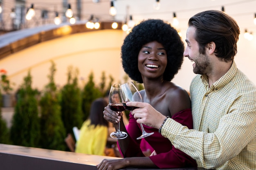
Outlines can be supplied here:
M136 138L141 135L141 127L137 124L133 115L129 115L129 125L127 131L130 135L130 143L125 153L120 153L124 157L145 157L142 153L139 144L141 140ZM182 110L175 115L172 119L180 124L193 128L193 119L191 109ZM176 149L169 139L163 137L156 128L144 126L146 132L154 132L153 135L145 137L144 139L153 147L157 155L149 157L158 168L181 168L181 167L197 167L196 161L184 152Z

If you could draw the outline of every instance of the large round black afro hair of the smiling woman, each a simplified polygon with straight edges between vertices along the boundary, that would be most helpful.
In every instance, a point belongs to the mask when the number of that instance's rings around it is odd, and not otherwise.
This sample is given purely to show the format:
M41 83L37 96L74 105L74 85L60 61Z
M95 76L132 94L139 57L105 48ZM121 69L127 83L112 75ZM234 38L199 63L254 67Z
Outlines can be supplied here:
M121 46L121 59L124 71L136 82L143 83L138 68L138 55L141 47L157 41L166 49L167 65L164 80L171 81L183 62L184 43L170 24L163 20L148 19L133 27Z

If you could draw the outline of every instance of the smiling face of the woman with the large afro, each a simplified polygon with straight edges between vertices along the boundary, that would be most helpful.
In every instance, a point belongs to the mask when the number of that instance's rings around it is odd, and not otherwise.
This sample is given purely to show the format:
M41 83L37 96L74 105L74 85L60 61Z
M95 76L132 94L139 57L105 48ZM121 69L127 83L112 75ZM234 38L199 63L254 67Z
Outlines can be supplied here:
M138 68L142 78L163 77L167 65L167 54L164 46L157 41L141 47L138 55Z

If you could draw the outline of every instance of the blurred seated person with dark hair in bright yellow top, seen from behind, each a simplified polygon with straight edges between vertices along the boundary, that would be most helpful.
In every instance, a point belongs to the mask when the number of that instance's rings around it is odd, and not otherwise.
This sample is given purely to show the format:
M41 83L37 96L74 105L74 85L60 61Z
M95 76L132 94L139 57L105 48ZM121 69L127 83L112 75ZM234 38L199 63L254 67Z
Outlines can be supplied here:
M75 152L90 155L109 155L106 150L108 139L108 121L103 118L104 107L108 103L103 99L96 99L92 102L90 115L83 122L79 140L76 143Z

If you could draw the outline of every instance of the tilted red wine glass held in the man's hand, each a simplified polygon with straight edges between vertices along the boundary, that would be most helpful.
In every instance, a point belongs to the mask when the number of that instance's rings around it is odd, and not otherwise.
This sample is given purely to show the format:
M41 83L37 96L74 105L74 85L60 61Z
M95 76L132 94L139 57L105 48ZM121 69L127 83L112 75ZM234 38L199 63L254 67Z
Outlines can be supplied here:
M122 99L125 110L134 110L135 108L137 108L134 106L126 106L127 102L143 102L141 94L139 93L137 87L132 82L122 84L120 88L121 88L121 93L120 93L121 99ZM146 132L142 124L140 124L140 127L142 130L142 135L137 139L148 137L149 135L154 134L154 132L151 132L151 133Z

